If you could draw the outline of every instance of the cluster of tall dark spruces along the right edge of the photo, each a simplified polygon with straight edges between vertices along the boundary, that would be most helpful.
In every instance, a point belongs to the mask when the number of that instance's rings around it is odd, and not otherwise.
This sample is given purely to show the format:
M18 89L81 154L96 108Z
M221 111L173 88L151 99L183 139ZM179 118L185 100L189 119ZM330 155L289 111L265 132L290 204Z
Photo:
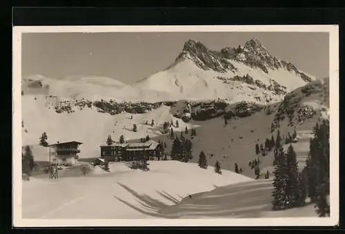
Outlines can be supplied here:
M315 204L320 217L330 215L327 195L329 184L329 121L316 123L314 137L310 140L310 150L306 166L299 172L297 156L290 142L285 152L277 133L275 149L275 177L273 180L273 209L290 209L304 206L306 198ZM295 133L294 133L295 135Z

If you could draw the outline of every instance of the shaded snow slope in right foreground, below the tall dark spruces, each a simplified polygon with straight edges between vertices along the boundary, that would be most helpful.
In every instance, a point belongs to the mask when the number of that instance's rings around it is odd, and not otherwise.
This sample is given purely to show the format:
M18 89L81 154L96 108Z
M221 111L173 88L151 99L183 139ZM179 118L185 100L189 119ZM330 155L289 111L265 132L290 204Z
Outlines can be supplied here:
M229 184L196 193L178 204L159 210L163 217L196 218L257 218L257 217L317 217L314 204L285 211L272 211L272 180L257 180Z

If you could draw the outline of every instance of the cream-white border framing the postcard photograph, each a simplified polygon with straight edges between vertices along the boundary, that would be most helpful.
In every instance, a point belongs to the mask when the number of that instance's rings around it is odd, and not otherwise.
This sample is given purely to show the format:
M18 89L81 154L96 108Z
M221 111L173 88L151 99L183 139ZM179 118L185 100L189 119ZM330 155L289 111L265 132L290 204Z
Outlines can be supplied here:
M21 209L21 34L29 32L328 32L331 119L331 217L253 219L24 219ZM15 227L43 226L335 226L339 222L339 27L338 25L121 25L16 26L13 28L12 75L12 222Z

